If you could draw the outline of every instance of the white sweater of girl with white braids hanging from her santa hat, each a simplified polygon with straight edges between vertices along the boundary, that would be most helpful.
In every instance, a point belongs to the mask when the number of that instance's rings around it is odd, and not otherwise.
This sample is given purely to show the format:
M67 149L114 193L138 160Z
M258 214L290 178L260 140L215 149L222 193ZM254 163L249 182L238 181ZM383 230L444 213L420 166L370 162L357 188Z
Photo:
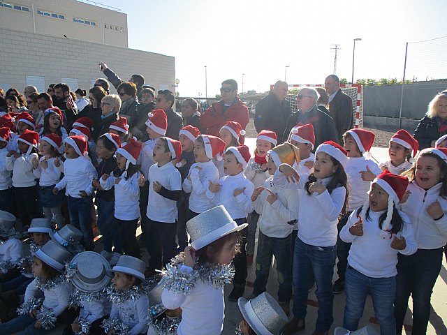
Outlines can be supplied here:
M349 232L349 228L358 221L357 211L353 211L348 222L340 232L340 239L346 243L352 243L349 250L348 262L351 267L361 274L372 278L389 278L397 274L397 253L413 255L418 250L413 235L413 225L408 216L399 211L402 217L403 227L397 233L397 237L405 238L406 248L396 250L391 248L391 239L383 239L379 233L379 218L385 211L369 210L369 220L363 222L363 235L356 236ZM395 235L393 235L395 236Z

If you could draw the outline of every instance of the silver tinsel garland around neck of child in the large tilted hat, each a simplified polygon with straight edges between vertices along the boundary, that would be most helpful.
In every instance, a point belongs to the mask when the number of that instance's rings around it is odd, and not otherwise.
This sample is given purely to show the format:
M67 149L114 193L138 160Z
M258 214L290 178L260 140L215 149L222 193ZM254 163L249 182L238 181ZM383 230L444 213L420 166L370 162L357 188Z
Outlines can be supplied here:
M213 288L222 288L223 285L231 283L235 275L233 265L198 264L198 259L196 259L192 272L182 271L182 265L184 265L184 253L175 256L171 263L166 265L161 279L163 288L188 295L199 280Z

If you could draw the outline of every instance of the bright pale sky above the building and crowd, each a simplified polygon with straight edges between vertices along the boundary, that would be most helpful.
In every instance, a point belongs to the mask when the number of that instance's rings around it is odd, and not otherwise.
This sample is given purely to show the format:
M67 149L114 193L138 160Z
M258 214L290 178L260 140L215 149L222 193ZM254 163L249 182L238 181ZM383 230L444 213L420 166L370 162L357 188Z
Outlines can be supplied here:
M354 38L354 81L401 80L406 42L406 79L447 78L446 0L96 1L127 14L129 47L175 57L180 96L205 97L205 66L208 96L228 78L239 92L242 77L243 91L265 92L285 72L288 84L321 84L335 44L350 82Z

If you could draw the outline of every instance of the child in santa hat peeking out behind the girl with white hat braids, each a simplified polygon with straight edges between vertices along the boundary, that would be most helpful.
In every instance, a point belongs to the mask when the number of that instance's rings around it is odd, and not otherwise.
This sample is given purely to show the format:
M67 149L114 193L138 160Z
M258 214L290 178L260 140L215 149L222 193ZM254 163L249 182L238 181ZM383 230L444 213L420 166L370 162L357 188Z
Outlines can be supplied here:
M418 141L408 131L401 129L391 137L388 154L390 161L380 163L379 168L389 170L393 174L402 174L409 170L413 164L410 162L418 152Z

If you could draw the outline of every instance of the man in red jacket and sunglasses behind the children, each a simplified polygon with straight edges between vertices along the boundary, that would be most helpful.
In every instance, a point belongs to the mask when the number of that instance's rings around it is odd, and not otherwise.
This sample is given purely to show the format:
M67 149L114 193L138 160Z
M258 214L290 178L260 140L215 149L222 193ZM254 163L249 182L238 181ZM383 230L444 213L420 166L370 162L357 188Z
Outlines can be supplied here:
M222 100L213 103L200 117L200 128L208 135L219 137L219 131L227 121L238 122L245 130L249 123L249 109L237 98L237 82L224 80L221 86Z

